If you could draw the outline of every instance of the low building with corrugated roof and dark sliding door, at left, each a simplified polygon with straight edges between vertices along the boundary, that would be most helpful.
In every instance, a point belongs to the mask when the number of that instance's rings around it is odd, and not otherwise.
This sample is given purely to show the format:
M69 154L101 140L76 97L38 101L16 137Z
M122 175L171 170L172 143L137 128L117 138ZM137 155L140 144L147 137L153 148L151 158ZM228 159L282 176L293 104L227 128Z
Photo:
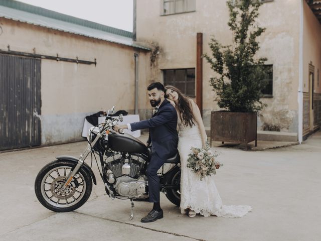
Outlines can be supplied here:
M148 56L130 32L0 1L0 150L82 140L113 105L145 118Z

